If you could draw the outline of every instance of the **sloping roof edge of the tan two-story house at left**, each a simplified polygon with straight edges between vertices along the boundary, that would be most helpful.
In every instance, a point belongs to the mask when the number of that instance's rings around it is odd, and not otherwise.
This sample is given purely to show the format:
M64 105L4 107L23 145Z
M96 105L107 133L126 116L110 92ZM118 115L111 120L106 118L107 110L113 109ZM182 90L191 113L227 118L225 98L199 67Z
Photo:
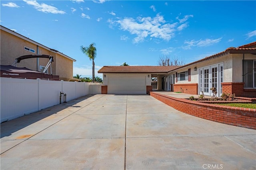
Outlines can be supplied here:
M54 53L57 53L57 54L61 55L62 57L65 57L65 58L67 58L67 59L70 59L70 60L72 60L72 61L76 61L75 59L72 59L71 57L68 57L67 55L64 55L63 53L60 53L60 52L57 51L57 50L50 49L50 48L48 48L48 47L46 47L46 46L44 46L44 45L42 45L42 44L40 44L40 43L38 43L38 42L33 41L32 39L29 39L29 38L27 38L27 37L25 37L25 36L23 36L23 35L21 35L21 34L19 34L19 33L16 33L16 32L14 32L14 31L12 31L12 30L10 30L10 29L8 29L8 28L2 26L2 25L0 25L0 26L1 26L1 30L6 31L6 32L8 32L8 33L10 33L10 34L12 34L12 35L15 35L16 37L19 37L19 38L21 38L21 39L24 39L24 40L30 42L30 43L33 43L33 44L35 44L35 45L38 45L39 47L42 47L42 48L44 48L44 49L46 49L46 50L48 50L48 51L52 51L52 52L54 52Z

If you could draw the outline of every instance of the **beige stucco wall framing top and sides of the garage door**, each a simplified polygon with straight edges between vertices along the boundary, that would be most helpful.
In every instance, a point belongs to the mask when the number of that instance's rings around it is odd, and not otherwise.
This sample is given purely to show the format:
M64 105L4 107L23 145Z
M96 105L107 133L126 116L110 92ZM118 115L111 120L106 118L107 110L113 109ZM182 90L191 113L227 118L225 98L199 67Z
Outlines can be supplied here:
M106 77L104 77L106 75ZM148 77L149 75L149 77ZM151 74L144 73L104 73L103 74L103 86L108 85L108 76L146 76L146 86L151 86Z

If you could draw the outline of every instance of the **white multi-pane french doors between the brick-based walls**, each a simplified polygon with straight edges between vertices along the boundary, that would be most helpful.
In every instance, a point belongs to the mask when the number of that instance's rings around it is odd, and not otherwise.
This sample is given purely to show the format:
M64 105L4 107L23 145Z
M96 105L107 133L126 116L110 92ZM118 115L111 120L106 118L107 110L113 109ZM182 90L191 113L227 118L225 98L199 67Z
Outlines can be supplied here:
M212 96L212 87L216 88L217 96L222 94L223 64L216 64L199 69L199 90L204 95Z

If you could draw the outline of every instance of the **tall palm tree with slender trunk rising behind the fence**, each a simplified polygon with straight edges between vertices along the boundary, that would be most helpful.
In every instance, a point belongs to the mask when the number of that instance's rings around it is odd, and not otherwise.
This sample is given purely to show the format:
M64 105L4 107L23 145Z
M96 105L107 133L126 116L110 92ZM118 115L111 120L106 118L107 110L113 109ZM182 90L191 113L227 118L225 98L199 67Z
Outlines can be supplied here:
M95 73L94 73L94 59L96 58L96 47L95 43L91 43L89 47L80 46L81 51L92 60L92 82L95 82Z

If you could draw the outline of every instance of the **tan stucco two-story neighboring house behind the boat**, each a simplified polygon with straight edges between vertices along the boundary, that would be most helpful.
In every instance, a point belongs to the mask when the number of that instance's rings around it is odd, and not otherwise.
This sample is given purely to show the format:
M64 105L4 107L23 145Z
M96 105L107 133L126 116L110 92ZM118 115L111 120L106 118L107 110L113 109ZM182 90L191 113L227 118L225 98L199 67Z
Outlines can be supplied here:
M45 54L53 56L52 74L59 75L60 80L73 79L73 62L76 61L54 49L50 49L36 41L20 35L1 25L0 58L2 65L11 65L16 58L22 55ZM27 67L42 72L49 59L37 58L22 60L17 67ZM47 70L50 74L50 67Z

